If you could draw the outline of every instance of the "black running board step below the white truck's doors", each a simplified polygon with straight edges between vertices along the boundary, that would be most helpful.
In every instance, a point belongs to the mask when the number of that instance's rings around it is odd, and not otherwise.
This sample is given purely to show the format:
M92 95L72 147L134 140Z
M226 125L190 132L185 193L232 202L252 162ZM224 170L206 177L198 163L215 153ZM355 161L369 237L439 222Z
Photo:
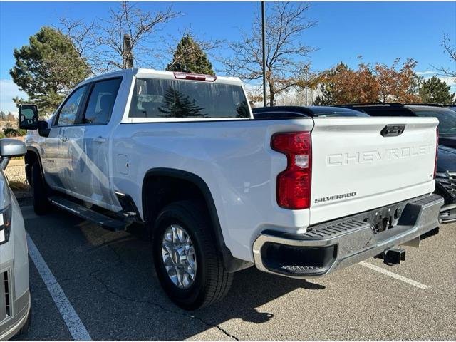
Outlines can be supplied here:
M95 212L92 209L88 209L80 204L72 202L71 200L63 197L49 197L49 201L51 201L51 203L56 205L57 207L66 210L67 212L71 212L73 214L78 215L78 217L87 219L96 224L100 224L101 227L108 230L112 230L113 232L125 230L128 227L128 225L132 223L132 221L129 219L114 219L112 217L100 214L99 212Z

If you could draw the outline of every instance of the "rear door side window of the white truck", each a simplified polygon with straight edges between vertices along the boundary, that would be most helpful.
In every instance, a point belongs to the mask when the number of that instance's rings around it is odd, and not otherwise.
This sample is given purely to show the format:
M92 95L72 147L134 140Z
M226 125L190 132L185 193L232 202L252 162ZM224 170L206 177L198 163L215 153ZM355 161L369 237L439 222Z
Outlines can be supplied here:
M83 123L90 125L109 122L121 81L121 78L113 78L95 83L90 93Z

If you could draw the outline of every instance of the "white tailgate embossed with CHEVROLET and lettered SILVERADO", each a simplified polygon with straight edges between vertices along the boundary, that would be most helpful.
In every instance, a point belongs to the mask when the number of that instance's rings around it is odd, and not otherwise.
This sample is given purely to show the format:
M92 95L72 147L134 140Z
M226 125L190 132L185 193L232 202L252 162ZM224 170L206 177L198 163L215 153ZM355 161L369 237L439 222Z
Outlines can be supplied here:
M310 223L434 190L435 118L314 118ZM405 125L385 136L385 126Z

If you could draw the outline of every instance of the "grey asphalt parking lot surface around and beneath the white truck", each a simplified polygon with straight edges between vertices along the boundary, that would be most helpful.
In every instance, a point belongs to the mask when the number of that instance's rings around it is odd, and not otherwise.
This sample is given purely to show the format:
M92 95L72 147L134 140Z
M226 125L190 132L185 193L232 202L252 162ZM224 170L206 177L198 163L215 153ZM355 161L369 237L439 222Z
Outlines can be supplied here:
M46 279L46 286L30 260L33 321L16 339L73 338L68 312L51 297L55 286L73 308L69 316L93 339L456 339L456 224L442 225L419 249L405 247L400 266L369 259L313 281L247 269L235 274L223 301L189 312L160 288L150 242L140 232L108 232L66 212L37 217L28 205L22 210L55 281Z

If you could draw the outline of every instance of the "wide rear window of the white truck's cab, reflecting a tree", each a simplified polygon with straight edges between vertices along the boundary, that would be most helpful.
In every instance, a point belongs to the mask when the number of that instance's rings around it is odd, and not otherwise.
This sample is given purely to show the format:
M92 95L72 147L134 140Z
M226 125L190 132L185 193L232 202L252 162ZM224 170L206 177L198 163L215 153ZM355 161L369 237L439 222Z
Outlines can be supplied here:
M130 118L250 118L241 86L138 78Z

